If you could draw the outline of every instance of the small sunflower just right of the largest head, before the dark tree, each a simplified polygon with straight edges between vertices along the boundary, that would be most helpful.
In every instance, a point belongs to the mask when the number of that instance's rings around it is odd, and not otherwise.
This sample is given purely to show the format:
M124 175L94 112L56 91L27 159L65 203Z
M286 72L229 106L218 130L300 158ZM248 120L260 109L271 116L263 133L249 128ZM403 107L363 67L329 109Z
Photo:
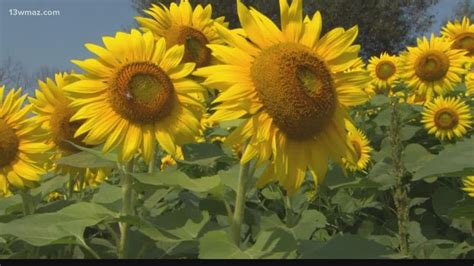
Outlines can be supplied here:
M383 52L380 57L372 56L367 65L372 84L377 91L390 90L399 78L399 60L397 56Z

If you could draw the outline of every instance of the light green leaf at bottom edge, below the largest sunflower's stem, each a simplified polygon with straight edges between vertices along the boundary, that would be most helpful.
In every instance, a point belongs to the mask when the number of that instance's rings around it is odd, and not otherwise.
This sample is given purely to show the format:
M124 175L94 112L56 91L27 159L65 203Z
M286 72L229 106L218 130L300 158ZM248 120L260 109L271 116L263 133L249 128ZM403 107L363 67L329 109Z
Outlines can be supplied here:
M226 231L210 231L199 240L200 259L254 259L240 250Z

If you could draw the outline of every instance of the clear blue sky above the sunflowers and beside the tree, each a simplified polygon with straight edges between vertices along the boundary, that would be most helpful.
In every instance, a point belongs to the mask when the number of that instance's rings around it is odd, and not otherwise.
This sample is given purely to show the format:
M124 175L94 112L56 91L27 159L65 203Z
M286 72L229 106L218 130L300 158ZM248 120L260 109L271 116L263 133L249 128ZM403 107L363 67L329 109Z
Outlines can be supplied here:
M398 1L398 0L394 0ZM438 31L459 0L440 0L431 10ZM60 16L11 16L10 9L59 10ZM130 0L0 0L0 61L7 56L27 71L41 66L69 70L71 59L89 55L84 43L134 24Z

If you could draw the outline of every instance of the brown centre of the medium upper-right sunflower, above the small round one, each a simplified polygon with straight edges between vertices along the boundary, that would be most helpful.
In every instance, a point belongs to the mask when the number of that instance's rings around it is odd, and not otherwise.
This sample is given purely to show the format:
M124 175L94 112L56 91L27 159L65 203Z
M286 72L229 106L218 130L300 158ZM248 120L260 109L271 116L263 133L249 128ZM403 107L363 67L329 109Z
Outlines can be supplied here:
M431 51L418 57L415 73L425 81L436 81L443 78L449 69L449 58L439 51Z

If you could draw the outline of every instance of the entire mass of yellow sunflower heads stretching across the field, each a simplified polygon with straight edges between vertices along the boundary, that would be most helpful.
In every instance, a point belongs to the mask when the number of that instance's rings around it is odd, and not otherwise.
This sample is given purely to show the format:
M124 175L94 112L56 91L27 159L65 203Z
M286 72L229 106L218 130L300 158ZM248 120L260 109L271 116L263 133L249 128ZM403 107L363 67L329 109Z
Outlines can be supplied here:
M291 195L307 173L315 185L323 182L329 161L367 168L372 148L349 110L374 92L395 95L401 84L409 88L408 102L425 104L429 133L441 139L466 133L468 107L443 95L469 72L474 26L468 19L400 55L374 56L366 67L354 43L357 26L322 34L319 12L304 15L302 0L279 2L276 25L237 0L241 28L235 30L212 18L211 5L153 5L148 17L136 17L139 30L86 44L95 56L72 60L81 73L39 81L31 104L23 105L19 90L3 98L2 87L0 193L31 187L44 171L100 183L109 169L54 164L80 146L114 151L122 163L141 156L147 164L160 149L163 170L182 158L184 144L207 141L207 129L240 119L230 135L210 141L232 147L242 164L265 166L259 187L278 182ZM218 90L210 110L208 88ZM30 110L34 116L26 119Z

